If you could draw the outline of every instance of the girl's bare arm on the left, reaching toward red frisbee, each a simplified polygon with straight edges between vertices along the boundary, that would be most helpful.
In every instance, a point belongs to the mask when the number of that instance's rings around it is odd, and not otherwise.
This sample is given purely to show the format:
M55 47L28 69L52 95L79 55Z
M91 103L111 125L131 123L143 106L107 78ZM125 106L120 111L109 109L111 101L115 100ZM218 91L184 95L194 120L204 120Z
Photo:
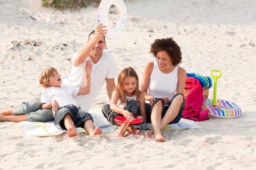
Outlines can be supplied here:
M110 100L110 109L113 110L116 113L120 113L121 115L124 115L124 117L128 117L130 115L128 110L124 110L117 106L118 99L120 97L119 91L115 90L112 93L112 98Z

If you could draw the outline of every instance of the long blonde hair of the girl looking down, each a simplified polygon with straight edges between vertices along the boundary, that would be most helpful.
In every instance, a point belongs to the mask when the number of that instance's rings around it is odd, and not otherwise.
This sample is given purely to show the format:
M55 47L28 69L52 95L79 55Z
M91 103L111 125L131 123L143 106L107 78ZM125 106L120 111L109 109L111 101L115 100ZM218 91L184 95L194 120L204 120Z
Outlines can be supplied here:
M139 101L139 94L142 93L139 90L139 77L136 71L132 67L124 68L118 75L118 83L114 90L119 91L120 93L120 104L126 102L126 95L124 93L124 79L128 77L135 77L136 79L136 88L133 91L134 95L136 95L137 102Z

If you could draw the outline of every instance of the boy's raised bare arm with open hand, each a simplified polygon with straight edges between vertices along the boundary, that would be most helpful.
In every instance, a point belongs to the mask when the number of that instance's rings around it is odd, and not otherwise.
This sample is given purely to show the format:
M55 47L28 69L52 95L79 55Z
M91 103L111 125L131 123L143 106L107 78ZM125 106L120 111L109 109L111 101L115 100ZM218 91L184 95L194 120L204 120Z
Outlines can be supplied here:
M92 73L92 61L86 60L86 66L85 66L85 84L83 88L80 88L77 95L86 95L90 93L90 87L91 87L91 73Z

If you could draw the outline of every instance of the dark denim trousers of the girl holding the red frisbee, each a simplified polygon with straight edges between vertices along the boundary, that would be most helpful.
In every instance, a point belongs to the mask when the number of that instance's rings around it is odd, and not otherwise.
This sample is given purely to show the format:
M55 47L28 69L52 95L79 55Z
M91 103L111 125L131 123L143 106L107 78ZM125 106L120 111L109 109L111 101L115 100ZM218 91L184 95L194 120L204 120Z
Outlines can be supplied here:
M124 110L128 110L129 112L134 113L134 117L137 117L140 115L139 113L139 104L135 101L135 100L130 100L126 107L124 108ZM115 117L117 116L124 116L120 113L116 113L113 110L110 109L110 105L109 104L104 104L102 106L102 113L104 115L104 117L106 117L106 119L108 121L110 121L113 125L115 125Z

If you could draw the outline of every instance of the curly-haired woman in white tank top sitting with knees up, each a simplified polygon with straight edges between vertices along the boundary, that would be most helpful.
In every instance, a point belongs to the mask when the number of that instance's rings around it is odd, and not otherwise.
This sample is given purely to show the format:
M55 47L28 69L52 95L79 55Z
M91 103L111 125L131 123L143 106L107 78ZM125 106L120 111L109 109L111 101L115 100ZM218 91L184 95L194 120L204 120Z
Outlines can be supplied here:
M182 118L186 71L178 66L182 62L182 53L173 38L155 40L150 53L156 61L146 64L141 91L149 101L146 104L147 123L152 124L153 130L146 131L145 135L154 135L155 141L164 141L162 128Z

